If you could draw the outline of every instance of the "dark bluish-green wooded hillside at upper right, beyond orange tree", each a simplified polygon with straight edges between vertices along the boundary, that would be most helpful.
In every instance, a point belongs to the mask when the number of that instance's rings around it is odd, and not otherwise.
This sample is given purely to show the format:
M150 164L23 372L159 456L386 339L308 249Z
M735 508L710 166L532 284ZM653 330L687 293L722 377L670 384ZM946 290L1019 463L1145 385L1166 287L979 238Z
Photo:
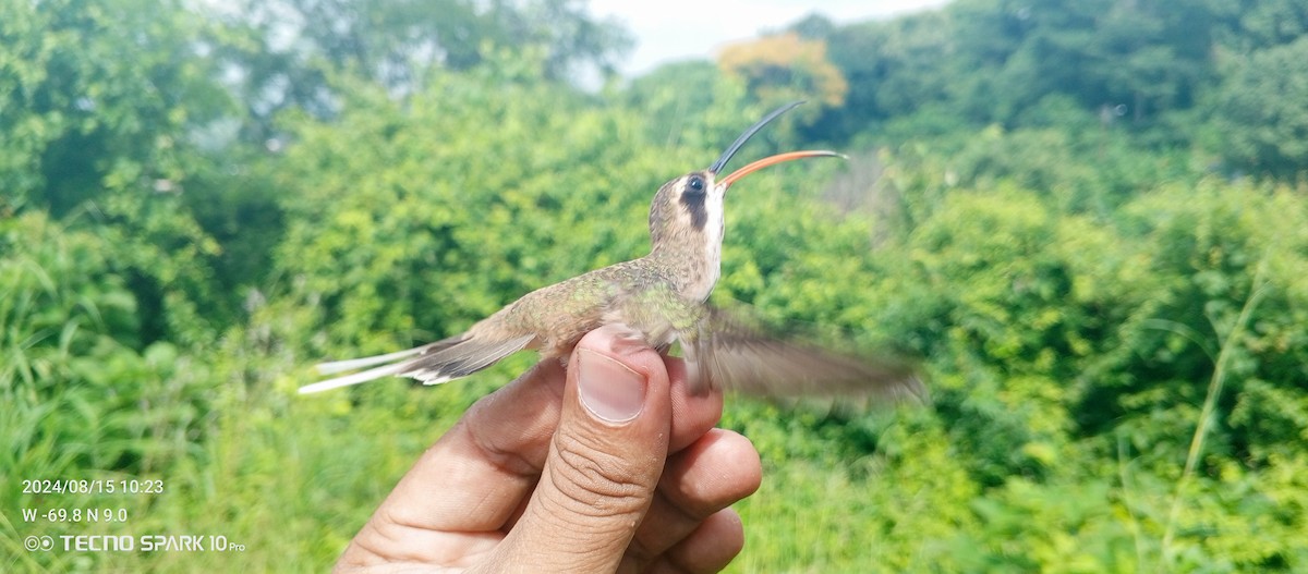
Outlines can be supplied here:
M791 29L825 41L849 80L849 105L806 135L899 145L998 124L1080 136L1097 118L1133 149L1202 145L1292 179L1308 140L1300 4L960 0L882 22L800 20Z

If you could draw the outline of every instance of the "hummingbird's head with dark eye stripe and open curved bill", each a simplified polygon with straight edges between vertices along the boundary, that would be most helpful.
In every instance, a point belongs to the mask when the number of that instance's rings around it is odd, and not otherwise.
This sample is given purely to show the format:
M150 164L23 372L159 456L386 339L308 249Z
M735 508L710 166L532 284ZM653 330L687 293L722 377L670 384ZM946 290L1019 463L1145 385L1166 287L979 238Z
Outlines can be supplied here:
M687 286L688 297L708 298L717 282L722 260L722 200L732 183L757 170L791 160L844 157L836 152L825 150L780 153L755 161L718 179L718 174L731 161L731 157L749 141L749 137L800 103L803 102L791 102L773 110L740 133L708 169L691 171L672 179L659 187L658 194L654 195L654 203L650 204L653 254L666 254L702 271L702 273L692 273L698 279Z

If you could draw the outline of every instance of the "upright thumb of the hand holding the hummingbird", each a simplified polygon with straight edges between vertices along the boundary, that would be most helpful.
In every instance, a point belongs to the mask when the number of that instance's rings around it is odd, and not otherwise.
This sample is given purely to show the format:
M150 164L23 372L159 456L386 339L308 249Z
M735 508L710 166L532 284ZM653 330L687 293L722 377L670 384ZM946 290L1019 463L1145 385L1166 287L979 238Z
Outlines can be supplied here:
M613 571L667 459L663 358L608 326L577 344L540 482L500 545L498 567Z

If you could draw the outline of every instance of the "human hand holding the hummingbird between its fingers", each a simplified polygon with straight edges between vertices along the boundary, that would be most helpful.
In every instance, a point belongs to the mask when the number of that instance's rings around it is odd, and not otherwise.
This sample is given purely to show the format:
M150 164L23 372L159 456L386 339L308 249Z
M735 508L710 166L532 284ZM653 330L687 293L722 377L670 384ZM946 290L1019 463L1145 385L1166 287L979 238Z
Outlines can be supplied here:
M479 400L354 536L336 571L718 571L727 506L759 488L749 441L714 429L678 358L586 335Z

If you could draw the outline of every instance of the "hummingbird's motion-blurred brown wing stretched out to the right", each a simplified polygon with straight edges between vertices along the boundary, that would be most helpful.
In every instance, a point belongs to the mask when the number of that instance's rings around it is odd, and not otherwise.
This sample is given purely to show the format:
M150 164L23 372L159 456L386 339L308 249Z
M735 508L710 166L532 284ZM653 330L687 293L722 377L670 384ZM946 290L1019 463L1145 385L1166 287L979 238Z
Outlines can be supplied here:
M683 336L691 384L766 397L867 397L926 404L917 363L895 354L838 354L763 335L719 309Z

